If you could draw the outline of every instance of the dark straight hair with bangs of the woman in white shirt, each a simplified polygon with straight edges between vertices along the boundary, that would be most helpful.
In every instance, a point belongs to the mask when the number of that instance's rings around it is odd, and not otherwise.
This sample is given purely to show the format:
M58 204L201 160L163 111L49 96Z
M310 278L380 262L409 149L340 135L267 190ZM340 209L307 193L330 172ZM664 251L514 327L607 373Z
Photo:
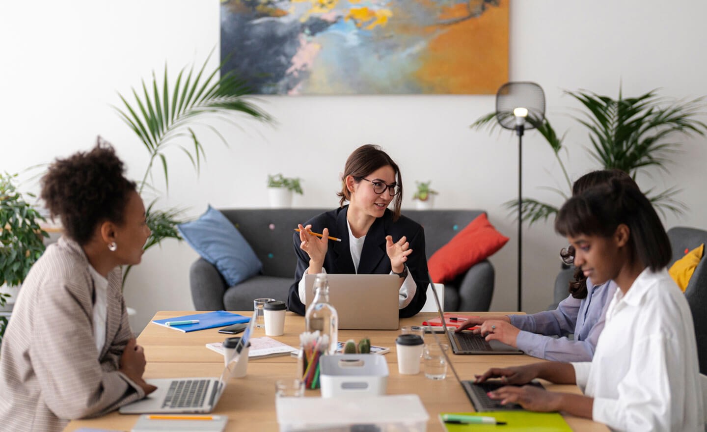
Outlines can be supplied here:
M555 220L560 235L610 237L617 227L629 227L629 259L652 272L670 263L670 240L658 214L636 183L619 178L590 187L568 199Z

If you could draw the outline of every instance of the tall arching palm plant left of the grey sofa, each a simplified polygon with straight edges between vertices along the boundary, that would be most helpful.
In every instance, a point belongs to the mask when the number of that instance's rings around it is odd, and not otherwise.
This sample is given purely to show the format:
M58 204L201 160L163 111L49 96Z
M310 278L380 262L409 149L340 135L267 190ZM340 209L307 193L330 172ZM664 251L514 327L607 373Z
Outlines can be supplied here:
M213 54L213 51L211 52ZM218 119L233 124L232 117L250 117L259 121L270 122L271 117L261 110L248 97L250 89L245 82L233 75L232 72L218 76L221 70L219 65L213 71L206 71L211 54L198 71L191 66L182 68L177 74L177 79L171 83L168 79L167 65L165 64L164 76L158 79L153 73L151 85L142 81L141 89L132 89L134 103L119 94L124 107L115 109L118 115L138 136L148 153L148 165L145 175L139 182L138 192L142 194L147 188L153 194L156 191L149 185L152 169L155 165L162 168L165 185L169 188L168 177L168 152L172 149L180 150L199 173L201 160L206 158L202 141L192 127L193 124L205 126L220 139L225 146L228 141L218 132L213 124L206 123L209 119ZM141 90L141 91L140 91ZM142 94L140 94L142 93ZM179 139L187 139L191 146L183 146ZM158 198L151 200L146 209L147 225L151 230L144 250L154 245L160 245L162 240L174 238L181 240L177 224L181 223L184 209L158 209ZM131 266L123 274L123 287L130 272Z

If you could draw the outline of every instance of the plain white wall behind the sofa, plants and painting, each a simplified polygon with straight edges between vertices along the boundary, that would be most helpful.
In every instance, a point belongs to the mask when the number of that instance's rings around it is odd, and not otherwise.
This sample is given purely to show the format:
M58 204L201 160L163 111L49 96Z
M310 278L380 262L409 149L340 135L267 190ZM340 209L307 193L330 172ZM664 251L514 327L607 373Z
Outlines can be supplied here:
M677 98L707 95L707 46L703 16L707 3L682 1L513 1L510 9L510 80L536 81L547 95L548 113L566 145L573 180L595 168L583 150L587 136L568 114L577 104L563 89L588 88L638 95L653 88ZM203 62L216 47L218 0L117 2L3 2L0 6L0 170L17 172L93 145L101 134L116 146L139 178L146 151L110 107L116 91L129 92L140 78L170 74L189 62ZM170 196L165 205L185 206L197 216L207 203L216 207L267 206L268 173L303 177L304 197L295 205L337 205L334 197L346 156L364 143L380 144L397 160L410 190L415 180L433 180L438 208L486 209L511 240L491 258L496 267L493 310L516 305L516 223L503 202L518 185L517 139L510 134L469 129L493 110L491 95L409 95L349 97L266 97L262 107L274 127L242 122L243 130L223 127L231 143L202 137L206 169L197 177L188 160L170 156ZM571 128L571 129L570 129ZM643 186L682 185L690 210L677 224L707 228L707 146L687 139L667 175L641 179ZM563 185L549 146L537 134L524 140L524 194L551 199L538 187ZM157 179L159 180L159 176ZM160 183L159 181L157 182ZM27 188L36 186L28 184ZM404 205L411 208L411 193ZM551 303L557 252L565 241L551 224L523 233L524 309ZM125 296L139 310L134 327L156 310L188 310L189 264L197 255L172 240L153 248L129 277Z

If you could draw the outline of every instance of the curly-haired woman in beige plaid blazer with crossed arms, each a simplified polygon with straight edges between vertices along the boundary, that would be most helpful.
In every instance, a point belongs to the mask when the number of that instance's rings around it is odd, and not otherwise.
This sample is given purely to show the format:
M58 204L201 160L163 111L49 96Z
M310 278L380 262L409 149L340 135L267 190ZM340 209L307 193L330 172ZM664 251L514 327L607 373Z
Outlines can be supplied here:
M113 148L57 159L41 198L64 234L25 279L0 355L0 424L61 431L155 387L128 324L120 266L138 264L150 230L135 183Z

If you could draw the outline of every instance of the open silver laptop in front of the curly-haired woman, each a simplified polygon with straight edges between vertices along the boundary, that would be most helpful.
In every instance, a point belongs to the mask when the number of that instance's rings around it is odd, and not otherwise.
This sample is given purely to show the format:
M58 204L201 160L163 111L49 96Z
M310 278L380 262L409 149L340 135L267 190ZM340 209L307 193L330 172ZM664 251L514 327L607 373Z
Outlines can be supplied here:
M226 390L226 384L228 384L231 372L238 366L238 362L247 361L245 356L241 358L240 352L250 342L254 328L255 314L248 322L248 327L243 332L238 346L235 347L236 354L228 362L228 365L223 368L220 377L146 380L148 384L155 385L157 390L144 397L144 399L120 407L120 414L175 414L213 411L218 399L221 399L221 395L223 395L223 390Z

